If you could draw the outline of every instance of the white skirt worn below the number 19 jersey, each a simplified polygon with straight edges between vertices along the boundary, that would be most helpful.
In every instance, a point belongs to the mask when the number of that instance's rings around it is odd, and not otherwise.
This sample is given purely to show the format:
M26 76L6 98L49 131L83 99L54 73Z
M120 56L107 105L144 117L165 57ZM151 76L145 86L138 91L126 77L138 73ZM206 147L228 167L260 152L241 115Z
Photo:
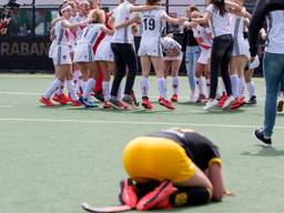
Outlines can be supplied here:
M139 57L163 57L163 50L161 44L161 38L143 38L140 42L138 51Z

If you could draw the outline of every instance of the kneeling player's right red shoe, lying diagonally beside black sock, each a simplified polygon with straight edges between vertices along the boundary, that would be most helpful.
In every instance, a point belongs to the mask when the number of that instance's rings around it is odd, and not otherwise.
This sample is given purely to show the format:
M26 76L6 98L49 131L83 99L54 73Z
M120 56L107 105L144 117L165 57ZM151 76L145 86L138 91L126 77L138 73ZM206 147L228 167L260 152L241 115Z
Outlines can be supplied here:
M175 191L175 187L170 181L163 181L158 187L139 201L136 210L146 211L158 209L160 205L169 201L170 195Z

